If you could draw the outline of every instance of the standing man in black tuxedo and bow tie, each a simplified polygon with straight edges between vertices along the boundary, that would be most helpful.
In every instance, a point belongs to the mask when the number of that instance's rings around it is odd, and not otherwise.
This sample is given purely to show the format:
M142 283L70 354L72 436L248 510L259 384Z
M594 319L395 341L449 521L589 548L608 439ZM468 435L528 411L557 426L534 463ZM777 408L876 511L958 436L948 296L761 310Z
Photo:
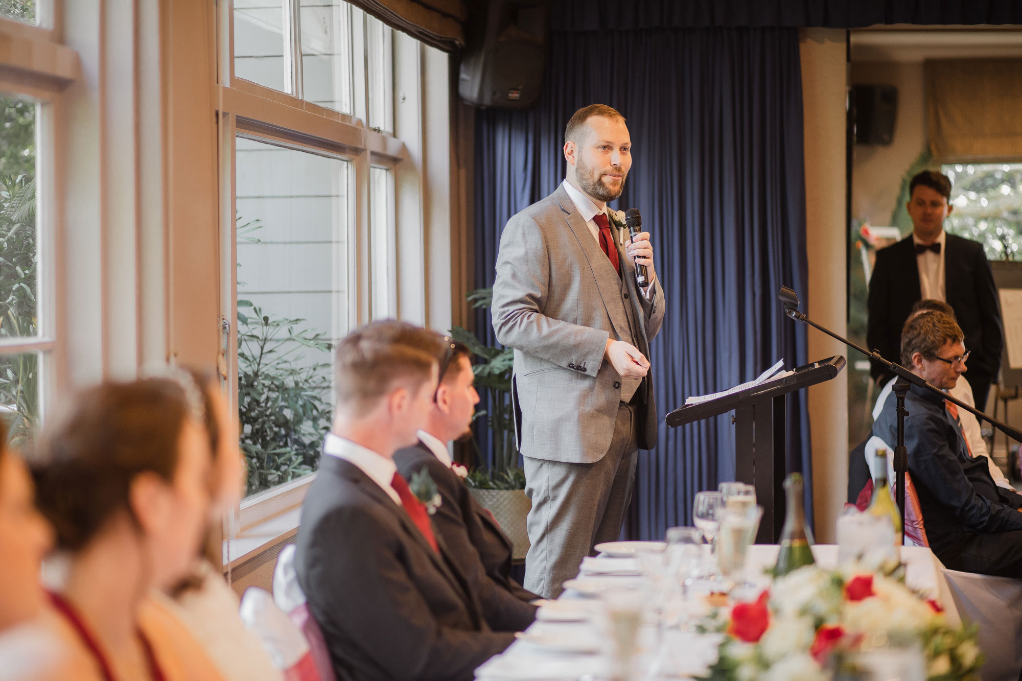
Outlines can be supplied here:
M943 301L955 310L971 352L966 380L976 406L986 407L990 382L996 380L1004 350L997 288L982 244L947 234L943 221L950 212L951 183L933 171L919 173L909 184L907 203L912 236L877 252L870 279L869 327L866 342L888 360L898 356L901 326L921 299ZM874 378L892 376L874 364Z

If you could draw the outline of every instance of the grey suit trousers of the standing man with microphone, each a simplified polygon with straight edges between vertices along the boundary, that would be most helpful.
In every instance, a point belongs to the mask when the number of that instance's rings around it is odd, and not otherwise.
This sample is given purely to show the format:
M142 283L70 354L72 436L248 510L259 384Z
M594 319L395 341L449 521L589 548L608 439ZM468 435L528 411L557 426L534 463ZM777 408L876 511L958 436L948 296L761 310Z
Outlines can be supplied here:
M636 408L621 403L610 449L599 461L568 463L524 457L529 548L525 588L545 598L560 595L593 546L617 540L632 500L639 446Z

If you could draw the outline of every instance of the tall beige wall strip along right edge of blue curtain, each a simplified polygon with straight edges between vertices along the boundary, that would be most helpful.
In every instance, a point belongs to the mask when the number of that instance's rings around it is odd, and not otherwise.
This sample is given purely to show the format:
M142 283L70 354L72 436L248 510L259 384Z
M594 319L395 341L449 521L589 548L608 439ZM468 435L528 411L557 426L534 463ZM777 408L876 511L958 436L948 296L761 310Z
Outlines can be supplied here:
M806 312L845 331L845 32L805 29L799 41L805 135ZM808 358L848 353L843 344L808 329ZM848 480L847 370L808 389L817 541L833 542Z

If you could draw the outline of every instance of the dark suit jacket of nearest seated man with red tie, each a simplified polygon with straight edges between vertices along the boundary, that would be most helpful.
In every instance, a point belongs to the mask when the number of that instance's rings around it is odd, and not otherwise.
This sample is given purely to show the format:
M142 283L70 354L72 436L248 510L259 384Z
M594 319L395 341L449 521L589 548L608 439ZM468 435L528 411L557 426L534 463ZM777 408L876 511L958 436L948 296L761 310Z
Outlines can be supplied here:
M322 457L294 565L338 679L467 680L514 640L490 631L465 580L343 459Z

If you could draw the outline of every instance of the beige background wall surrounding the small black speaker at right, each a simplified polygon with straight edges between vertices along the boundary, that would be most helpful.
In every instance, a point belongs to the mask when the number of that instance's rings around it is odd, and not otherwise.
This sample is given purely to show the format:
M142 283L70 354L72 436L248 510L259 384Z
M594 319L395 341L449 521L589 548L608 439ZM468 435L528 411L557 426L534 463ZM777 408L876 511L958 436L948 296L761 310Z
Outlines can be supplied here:
M901 178L926 145L923 62L852 62L855 85L897 88L894 138L890 144L856 144L852 155L851 217L889 225Z

